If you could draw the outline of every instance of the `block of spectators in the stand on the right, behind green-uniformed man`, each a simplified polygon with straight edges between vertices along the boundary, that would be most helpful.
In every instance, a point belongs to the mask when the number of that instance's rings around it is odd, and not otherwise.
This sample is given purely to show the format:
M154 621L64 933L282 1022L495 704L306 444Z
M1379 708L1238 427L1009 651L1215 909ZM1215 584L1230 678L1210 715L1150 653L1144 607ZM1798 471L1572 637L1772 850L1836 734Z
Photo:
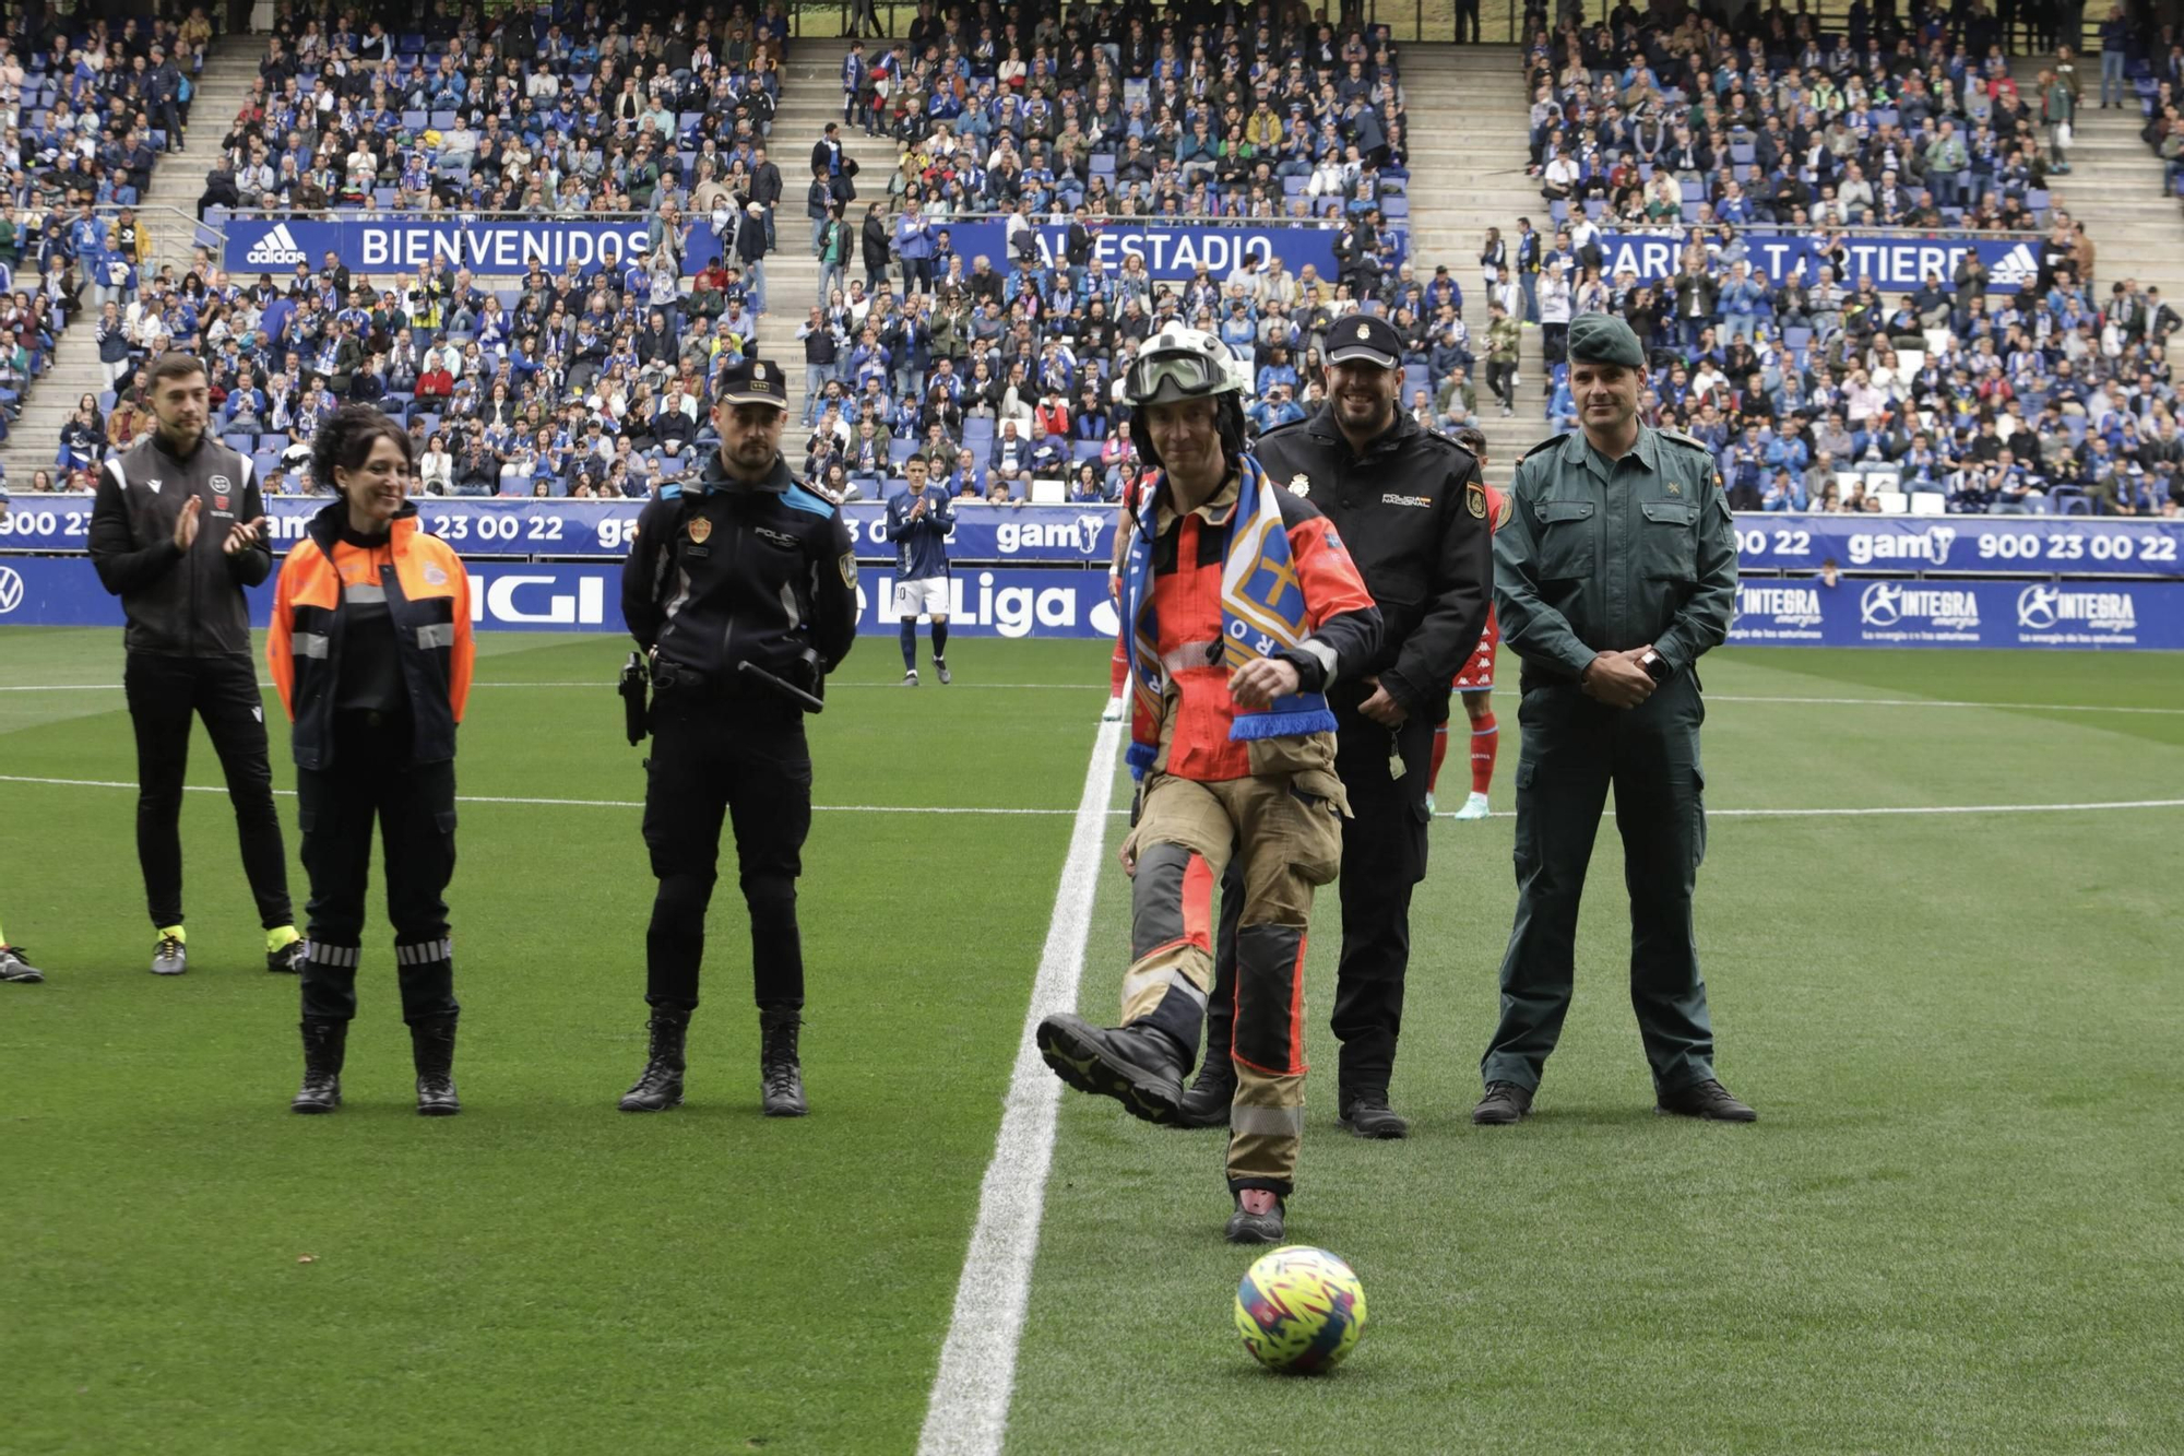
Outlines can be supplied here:
M2184 317L2158 289L2103 284L2053 206L2077 68L2060 46L2020 96L2009 24L1972 0L1902 22L1859 4L1839 35L1780 11L1725 26L1629 4L1542 26L1527 72L1546 227L1487 232L1485 339L1457 348L1457 321L1409 380L1411 409L1474 424L1483 363L1514 413L1538 326L1548 426L1575 428L1564 332L1610 310L1651 359L1645 418L1712 446L1736 509L2175 516L2167 341ZM2007 243L2007 275L1966 247L1948 275L1883 293L1848 247L1883 227ZM1806 262L1767 275L1756 230ZM1677 238L1673 273L1618 267L1610 232Z

